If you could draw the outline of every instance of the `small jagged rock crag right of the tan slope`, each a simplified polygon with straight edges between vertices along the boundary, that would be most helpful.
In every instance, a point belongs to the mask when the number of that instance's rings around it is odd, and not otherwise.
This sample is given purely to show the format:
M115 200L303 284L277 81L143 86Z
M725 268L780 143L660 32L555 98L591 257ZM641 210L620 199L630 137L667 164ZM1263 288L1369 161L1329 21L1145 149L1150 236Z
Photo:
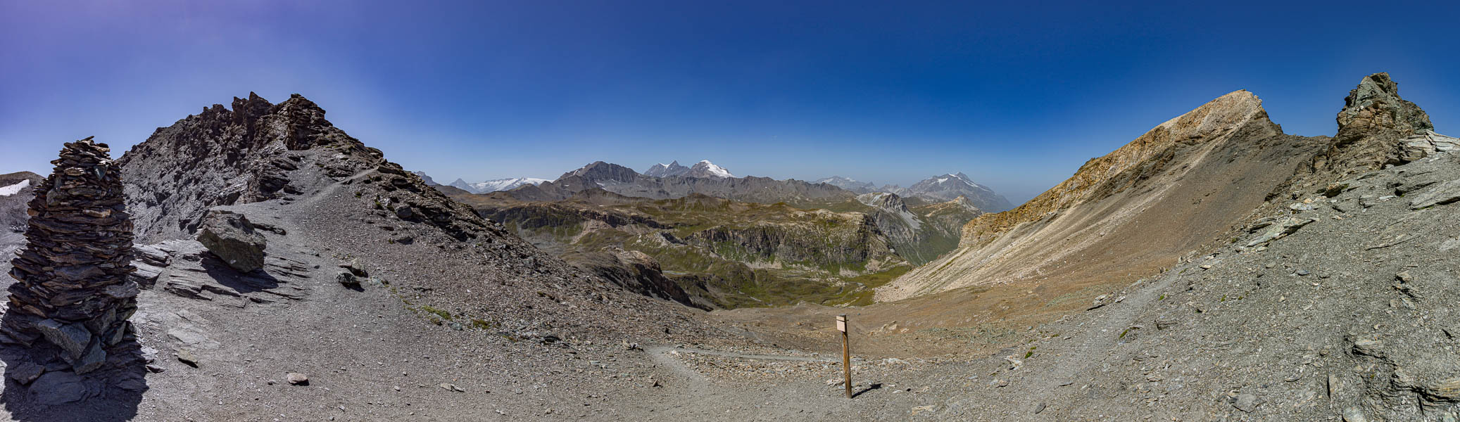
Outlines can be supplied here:
M1343 98L1343 110L1336 117L1340 142L1353 142L1367 133L1393 130L1402 136L1434 130L1429 114L1419 105L1399 98L1399 83L1388 73L1374 73L1359 80L1359 86Z

